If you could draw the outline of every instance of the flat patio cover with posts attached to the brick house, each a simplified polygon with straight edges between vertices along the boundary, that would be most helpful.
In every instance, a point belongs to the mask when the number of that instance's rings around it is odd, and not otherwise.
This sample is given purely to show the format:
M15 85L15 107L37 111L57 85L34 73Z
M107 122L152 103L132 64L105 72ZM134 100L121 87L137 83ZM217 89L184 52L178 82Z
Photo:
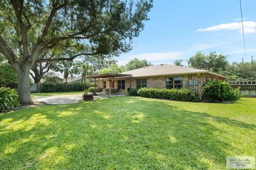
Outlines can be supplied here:
M131 77L132 74L119 74L119 73L106 73L106 74L95 74L95 75L88 75L85 76L84 79L94 79L94 88L96 90L97 84L96 84L96 80L102 80L102 92L104 88L104 80L109 80L109 97L111 96L111 94L115 94L115 91L117 91L118 89L115 88L111 88L111 87L115 87L115 79L118 78L129 78L130 79L130 88L131 88ZM111 84L111 82L113 84ZM107 90L107 89L106 89Z

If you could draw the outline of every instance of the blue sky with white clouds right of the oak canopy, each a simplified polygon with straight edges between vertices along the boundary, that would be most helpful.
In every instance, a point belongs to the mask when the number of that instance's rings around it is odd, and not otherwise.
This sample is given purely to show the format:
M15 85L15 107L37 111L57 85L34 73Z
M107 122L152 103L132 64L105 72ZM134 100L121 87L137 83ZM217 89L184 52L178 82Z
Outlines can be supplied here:
M255 7L255 0L242 0L246 61L252 55L256 60ZM149 18L133 49L116 57L119 65L134 57L155 65L182 59L187 65L197 51L211 50L229 55L229 62L244 57L239 0L155 0Z

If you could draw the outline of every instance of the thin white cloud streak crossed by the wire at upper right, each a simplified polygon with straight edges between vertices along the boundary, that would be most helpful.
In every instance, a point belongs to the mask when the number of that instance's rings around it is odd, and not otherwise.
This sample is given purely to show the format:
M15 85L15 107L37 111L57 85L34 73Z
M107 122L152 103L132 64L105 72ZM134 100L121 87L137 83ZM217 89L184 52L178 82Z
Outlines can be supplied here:
M242 32L242 23L241 22L222 23L219 25L214 25L213 27L198 29L196 30L196 32L223 31L223 30L236 30L236 31ZM255 32L256 32L256 22L245 21L244 33L255 33Z

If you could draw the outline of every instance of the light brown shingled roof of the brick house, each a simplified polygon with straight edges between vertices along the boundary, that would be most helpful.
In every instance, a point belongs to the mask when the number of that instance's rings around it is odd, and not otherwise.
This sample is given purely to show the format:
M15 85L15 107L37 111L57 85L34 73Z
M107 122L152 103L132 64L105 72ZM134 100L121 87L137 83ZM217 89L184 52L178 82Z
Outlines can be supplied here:
M123 72L122 74L132 74L132 77L154 77L160 75L180 75L180 74L197 74L197 73L209 73L228 79L227 77L213 73L207 70L193 69L189 67L182 67L170 64L161 64L154 66L147 66L140 69Z

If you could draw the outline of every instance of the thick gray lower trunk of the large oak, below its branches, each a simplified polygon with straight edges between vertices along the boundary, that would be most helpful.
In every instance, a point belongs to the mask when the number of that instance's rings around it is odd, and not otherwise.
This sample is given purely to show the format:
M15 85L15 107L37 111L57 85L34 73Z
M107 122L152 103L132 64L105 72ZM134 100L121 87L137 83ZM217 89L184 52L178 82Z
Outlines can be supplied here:
M32 103L30 99L30 84L29 84L29 70L23 71L19 69L17 71L18 77L18 91L19 91L19 101L21 105L30 105Z

